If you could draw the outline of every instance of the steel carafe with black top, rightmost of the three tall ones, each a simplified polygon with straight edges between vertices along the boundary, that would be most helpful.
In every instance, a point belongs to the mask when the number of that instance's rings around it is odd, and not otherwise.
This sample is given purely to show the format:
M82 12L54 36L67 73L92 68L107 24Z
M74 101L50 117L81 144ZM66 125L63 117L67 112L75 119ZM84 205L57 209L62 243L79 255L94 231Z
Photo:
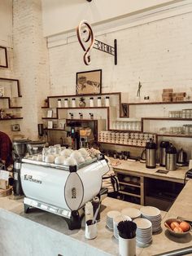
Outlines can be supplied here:
M170 143L169 147L166 148L166 170L176 170L177 169L177 149Z

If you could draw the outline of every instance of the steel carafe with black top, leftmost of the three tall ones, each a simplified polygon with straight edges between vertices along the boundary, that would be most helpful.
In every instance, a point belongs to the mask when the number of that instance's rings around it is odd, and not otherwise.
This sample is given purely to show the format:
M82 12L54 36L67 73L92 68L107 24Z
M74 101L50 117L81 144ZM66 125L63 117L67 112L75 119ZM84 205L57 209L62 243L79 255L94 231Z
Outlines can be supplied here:
M153 169L156 167L156 143L150 139L146 143L146 168Z

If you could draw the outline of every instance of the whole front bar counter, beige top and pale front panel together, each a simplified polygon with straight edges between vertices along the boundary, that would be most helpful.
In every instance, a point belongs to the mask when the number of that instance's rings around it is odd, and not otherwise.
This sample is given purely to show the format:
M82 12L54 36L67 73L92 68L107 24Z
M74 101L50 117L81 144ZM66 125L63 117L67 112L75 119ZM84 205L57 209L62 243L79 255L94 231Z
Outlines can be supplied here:
M164 227L164 220L181 216L192 220L192 179L182 189L168 212L162 214L162 232L153 235L152 244L136 248L137 255L155 255L192 246L192 236L177 238ZM85 218L81 229L69 230L66 221L55 214L31 209L24 214L23 200L7 196L0 198L0 255L1 256L55 256L55 255L118 255L118 242L106 227L107 212L126 207L139 209L141 205L107 197L101 207L98 236L85 238Z

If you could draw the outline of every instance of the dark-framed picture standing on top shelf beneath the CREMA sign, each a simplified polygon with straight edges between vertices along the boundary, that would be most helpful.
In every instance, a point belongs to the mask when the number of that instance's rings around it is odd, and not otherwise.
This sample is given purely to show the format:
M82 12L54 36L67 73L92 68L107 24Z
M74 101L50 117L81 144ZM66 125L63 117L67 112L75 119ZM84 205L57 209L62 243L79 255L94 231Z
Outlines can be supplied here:
M98 95L102 92L102 69L76 73L76 95Z

